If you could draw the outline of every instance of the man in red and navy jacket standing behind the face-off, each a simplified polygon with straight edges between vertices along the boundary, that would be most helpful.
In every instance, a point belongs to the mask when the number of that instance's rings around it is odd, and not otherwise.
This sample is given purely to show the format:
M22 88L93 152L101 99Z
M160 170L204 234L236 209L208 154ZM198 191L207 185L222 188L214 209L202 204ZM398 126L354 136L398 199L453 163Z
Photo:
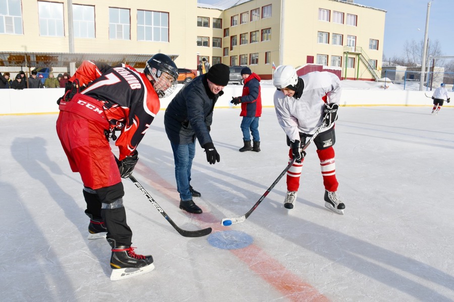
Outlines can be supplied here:
M260 77L251 71L249 67L241 70L244 80L243 94L241 97L232 98L231 103L238 105L241 103L240 116L241 131L243 131L244 146L240 152L255 151L260 152L260 134L258 131L259 118L262 115L262 98L260 93ZM251 134L254 145L251 146Z

